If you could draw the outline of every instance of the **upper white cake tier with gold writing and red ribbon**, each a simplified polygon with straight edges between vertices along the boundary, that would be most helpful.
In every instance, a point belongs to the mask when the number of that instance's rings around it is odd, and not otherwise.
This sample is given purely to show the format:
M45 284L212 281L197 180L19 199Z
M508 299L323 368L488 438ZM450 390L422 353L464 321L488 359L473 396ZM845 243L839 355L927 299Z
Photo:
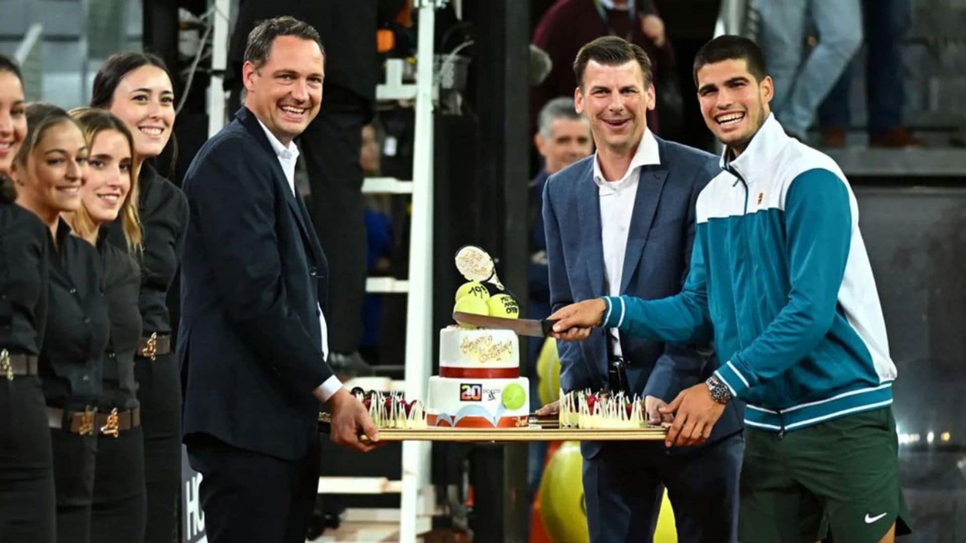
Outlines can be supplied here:
M440 377L512 379L520 376L520 342L505 329L440 330Z

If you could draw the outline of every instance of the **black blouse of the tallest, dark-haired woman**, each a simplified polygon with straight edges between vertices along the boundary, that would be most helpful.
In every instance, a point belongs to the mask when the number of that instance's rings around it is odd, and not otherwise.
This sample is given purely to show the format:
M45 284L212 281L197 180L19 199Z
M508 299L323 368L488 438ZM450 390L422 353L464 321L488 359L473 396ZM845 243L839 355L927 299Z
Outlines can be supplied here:
M187 226L187 198L170 181L157 175L145 162L137 178L140 189L138 212L144 227L144 255L141 259L141 308L145 335L152 332L170 333L167 294L171 281L178 272L181 249ZM128 243L121 221L108 225L110 241L122 249Z

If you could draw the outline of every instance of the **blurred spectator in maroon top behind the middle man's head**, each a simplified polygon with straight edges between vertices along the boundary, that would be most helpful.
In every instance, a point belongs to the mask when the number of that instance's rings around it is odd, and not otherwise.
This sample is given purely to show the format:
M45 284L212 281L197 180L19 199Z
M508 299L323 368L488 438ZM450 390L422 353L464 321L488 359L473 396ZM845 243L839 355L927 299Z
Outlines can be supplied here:
M539 111L549 100L573 96L574 59L584 43L601 36L619 36L637 43L651 59L654 83L660 86L673 55L665 34L664 21L651 0L558 0L540 17L533 31L533 43L546 51L554 67L544 82L534 87L530 111ZM660 109L660 108L659 108ZM657 132L657 110L647 112L647 127Z

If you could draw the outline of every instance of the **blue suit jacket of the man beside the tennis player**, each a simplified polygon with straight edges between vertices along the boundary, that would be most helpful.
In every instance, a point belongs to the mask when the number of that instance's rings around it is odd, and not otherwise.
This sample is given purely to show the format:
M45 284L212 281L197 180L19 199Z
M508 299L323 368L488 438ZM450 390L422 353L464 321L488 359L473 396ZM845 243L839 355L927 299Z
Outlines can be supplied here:
M620 293L661 299L681 291L695 238L697 195L720 172L718 157L657 138L660 164L640 169L637 197L624 253ZM544 228L554 311L575 301L608 295L594 156L551 176L544 189ZM560 386L565 391L608 386L604 329L580 342L557 341ZM621 334L631 392L670 402L707 379L718 362L708 345L674 345ZM711 440L742 427L738 402L729 402ZM584 442L585 457L597 443Z

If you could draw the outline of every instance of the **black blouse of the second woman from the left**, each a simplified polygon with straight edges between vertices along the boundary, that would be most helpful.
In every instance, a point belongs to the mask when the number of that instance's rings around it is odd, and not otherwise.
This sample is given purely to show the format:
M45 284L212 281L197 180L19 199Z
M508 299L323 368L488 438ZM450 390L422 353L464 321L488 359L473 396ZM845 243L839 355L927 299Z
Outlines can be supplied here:
M110 323L97 250L64 219L50 251L50 311L40 373L47 405L80 410L100 399L101 357Z

